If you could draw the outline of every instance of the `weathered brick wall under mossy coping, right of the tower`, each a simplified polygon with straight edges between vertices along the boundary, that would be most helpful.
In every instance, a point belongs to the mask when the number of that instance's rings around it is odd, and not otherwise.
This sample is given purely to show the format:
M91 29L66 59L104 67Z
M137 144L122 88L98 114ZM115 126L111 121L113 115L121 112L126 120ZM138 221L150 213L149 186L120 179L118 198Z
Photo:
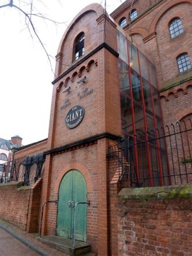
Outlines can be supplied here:
M191 203L118 200L118 255L192 255Z

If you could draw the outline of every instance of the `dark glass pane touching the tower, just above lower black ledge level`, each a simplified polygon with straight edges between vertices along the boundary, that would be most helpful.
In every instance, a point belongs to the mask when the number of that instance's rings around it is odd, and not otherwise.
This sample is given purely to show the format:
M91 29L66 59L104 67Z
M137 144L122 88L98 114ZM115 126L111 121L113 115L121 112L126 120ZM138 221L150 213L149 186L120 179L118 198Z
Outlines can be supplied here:
M122 130L125 133L133 134L131 99L121 93Z

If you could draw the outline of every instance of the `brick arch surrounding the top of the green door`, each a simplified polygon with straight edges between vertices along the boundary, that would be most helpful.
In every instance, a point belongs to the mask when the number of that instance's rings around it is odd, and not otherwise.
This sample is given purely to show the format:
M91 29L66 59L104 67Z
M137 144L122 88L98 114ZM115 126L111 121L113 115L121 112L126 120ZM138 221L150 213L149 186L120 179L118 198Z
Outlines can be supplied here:
M90 175L88 173L88 171L86 170L85 166L83 164L80 163L70 163L67 166L65 166L63 168L63 170L61 170L60 174L58 175L58 180L55 184L55 191L59 191L60 188L60 183L61 180L63 179L63 176L70 170L78 170L79 172L81 172L81 174L83 175L85 181L86 181L86 186L87 186L87 191L90 192L93 190L93 184L92 184L92 180L90 178Z

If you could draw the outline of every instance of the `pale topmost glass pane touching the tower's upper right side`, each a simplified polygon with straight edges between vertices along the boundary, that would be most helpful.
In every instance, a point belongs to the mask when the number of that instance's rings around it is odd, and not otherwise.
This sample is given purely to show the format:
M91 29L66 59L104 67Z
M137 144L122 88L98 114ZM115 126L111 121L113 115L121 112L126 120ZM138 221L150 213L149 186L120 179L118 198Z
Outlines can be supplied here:
M127 39L120 33L120 31L117 31L117 44L119 58L128 64Z

